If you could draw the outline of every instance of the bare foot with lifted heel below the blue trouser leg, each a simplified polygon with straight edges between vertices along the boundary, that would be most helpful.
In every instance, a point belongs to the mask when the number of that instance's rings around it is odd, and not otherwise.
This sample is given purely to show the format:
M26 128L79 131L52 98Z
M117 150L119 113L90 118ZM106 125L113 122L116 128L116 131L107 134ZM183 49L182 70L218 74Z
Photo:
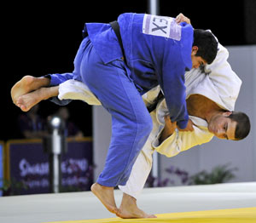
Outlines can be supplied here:
M113 187L102 186L98 183L93 184L90 187L91 192L99 198L102 204L113 214L117 214L118 209L116 207L113 197Z

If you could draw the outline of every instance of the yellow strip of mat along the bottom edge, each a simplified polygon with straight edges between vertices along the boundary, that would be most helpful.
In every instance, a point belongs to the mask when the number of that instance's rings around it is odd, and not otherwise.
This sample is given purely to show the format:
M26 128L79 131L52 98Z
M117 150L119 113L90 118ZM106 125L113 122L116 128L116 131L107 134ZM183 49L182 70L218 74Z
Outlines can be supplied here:
M245 209L218 209L170 214L155 214L154 219L120 219L108 218L97 220L68 220L47 223L256 223L256 207Z

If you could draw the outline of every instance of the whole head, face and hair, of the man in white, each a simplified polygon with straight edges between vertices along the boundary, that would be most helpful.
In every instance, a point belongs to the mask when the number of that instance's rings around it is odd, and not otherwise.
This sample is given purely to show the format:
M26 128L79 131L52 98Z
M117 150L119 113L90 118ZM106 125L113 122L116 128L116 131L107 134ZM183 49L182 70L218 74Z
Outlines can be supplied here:
M223 111L210 119L208 130L219 139L242 140L251 129L249 117L243 112Z

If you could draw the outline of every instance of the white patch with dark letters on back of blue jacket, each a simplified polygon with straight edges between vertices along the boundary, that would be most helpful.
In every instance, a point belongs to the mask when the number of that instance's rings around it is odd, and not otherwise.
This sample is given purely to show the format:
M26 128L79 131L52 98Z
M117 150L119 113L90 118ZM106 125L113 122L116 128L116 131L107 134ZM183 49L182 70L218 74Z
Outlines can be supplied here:
M143 33L153 36L181 39L181 29L172 17L145 14L143 19Z

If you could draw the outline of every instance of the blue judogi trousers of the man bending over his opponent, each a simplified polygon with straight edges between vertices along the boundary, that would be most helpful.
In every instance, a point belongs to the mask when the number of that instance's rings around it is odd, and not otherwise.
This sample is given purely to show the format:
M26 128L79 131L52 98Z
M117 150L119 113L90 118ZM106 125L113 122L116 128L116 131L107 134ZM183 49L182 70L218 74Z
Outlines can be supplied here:
M108 156L97 179L103 186L125 186L153 127L142 96L129 74L121 59L104 64L90 39L84 38L74 60L73 79L84 82L112 117ZM70 73L67 76L70 79ZM59 84L57 76L52 76L51 84Z

